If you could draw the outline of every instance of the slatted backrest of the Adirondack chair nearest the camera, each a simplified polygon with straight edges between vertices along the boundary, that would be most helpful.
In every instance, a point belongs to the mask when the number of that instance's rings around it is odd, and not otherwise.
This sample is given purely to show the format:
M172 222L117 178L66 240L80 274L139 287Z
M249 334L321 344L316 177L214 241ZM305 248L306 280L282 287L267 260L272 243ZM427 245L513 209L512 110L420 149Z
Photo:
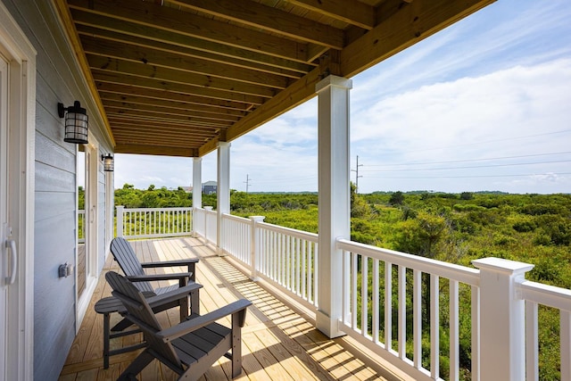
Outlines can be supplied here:
M181 368L182 364L172 344L170 342L164 343L157 338L156 333L161 331L162 327L154 315L153 309L146 302L145 296L127 278L114 271L105 274L105 279L112 286L112 295L123 302L127 309L127 319L131 318L129 320L133 321L145 333L145 340L149 347L173 365Z

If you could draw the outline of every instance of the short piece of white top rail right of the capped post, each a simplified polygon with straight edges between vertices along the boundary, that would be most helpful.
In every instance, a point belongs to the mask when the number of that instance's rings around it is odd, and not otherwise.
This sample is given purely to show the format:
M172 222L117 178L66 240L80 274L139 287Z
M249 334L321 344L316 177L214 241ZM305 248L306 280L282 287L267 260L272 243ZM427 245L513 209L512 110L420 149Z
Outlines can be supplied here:
M525 280L517 286L519 297L563 311L571 312L571 290Z

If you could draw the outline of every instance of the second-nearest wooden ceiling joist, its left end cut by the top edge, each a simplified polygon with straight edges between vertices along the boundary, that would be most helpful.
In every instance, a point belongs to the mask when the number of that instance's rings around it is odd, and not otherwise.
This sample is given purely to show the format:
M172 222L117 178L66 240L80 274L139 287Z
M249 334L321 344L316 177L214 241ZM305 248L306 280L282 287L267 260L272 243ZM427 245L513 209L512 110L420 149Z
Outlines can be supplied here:
M248 0L171 0L170 3L310 44L343 48L343 30L264 4Z

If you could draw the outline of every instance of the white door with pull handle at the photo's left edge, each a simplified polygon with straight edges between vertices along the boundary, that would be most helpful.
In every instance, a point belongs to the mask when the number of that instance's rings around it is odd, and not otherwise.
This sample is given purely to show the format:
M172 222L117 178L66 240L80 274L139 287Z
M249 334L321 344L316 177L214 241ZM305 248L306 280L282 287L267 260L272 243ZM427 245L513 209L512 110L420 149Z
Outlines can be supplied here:
M14 244L8 228L8 63L0 55L0 379L7 379L8 287L13 283L16 265Z

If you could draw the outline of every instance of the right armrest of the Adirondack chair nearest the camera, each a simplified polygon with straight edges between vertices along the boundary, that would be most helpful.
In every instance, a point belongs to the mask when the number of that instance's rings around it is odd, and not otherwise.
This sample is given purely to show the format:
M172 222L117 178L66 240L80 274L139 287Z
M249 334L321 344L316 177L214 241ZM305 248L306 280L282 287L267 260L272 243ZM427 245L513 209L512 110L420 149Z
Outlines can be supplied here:
M235 313L244 311L248 306L252 305L252 302L246 299L240 299L237 302L232 302L225 307L219 308L216 311L209 312L202 316L197 316L193 319L188 319L178 324L175 327L170 327L157 332L157 338L161 339L163 342L168 343L182 335L186 335L196 329L208 326L216 320L227 317Z

